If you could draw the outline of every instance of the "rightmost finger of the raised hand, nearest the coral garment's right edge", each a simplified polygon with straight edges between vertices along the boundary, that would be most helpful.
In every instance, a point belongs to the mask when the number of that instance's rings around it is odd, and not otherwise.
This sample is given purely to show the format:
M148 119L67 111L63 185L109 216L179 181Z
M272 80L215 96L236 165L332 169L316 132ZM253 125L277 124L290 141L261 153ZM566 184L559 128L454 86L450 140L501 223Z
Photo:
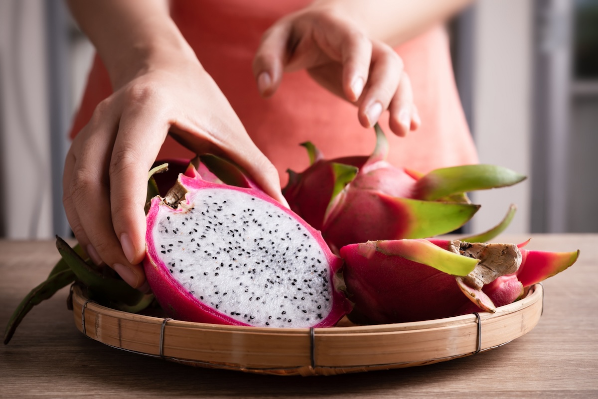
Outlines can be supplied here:
M413 90L407 73L401 76L401 82L389 106L389 127L397 136L404 137L410 130L419 127L420 119L413 103Z

